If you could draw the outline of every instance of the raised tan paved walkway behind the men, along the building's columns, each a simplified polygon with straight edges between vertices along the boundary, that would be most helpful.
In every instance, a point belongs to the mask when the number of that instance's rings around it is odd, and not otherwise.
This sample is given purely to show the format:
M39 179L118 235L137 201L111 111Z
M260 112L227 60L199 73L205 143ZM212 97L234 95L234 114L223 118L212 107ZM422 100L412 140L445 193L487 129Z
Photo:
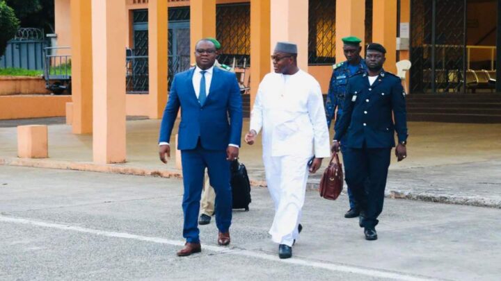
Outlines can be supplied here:
M74 135L67 125L49 126L48 159L19 160L16 128L0 128L0 164L179 177L174 155L167 165L158 160L159 124L159 120L127 121L127 162L111 165L93 164L92 136ZM408 126L408 158L392 159L388 196L501 208L499 124L409 122ZM240 151L254 185L265 185L261 155L260 142L243 144ZM310 187L317 187L318 178L310 178Z

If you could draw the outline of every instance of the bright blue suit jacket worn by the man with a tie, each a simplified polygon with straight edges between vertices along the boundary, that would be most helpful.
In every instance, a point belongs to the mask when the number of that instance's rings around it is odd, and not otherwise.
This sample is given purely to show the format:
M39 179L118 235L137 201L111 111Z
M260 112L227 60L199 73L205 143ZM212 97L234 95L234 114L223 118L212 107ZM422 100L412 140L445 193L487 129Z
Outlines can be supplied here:
M225 150L228 144L240 146L242 102L235 74L214 67L207 100L200 106L193 89L194 71L195 68L191 68L174 76L161 121L159 142L170 142L181 108L177 149L194 149L199 138L202 147L209 150Z

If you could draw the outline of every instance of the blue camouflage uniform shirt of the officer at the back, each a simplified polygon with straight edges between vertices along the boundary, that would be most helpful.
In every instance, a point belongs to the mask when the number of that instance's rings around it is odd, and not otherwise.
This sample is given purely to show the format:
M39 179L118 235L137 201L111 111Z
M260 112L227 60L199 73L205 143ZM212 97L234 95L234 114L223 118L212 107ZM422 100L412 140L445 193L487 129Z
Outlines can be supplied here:
M347 61L338 63L333 66L333 74L329 83L329 90L326 100L326 118L327 127L331 128L331 121L334 118L337 108L337 121L340 119L343 109L344 96L346 95L346 87L351 76L367 71L365 60L360 58L360 64L353 67ZM355 70L353 72L353 70Z

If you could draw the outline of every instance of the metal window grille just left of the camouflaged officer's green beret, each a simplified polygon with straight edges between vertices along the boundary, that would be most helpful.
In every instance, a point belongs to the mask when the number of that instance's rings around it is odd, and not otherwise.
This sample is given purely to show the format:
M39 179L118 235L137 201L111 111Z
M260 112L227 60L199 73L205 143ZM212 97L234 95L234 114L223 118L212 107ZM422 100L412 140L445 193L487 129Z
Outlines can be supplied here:
M308 65L335 62L335 0L308 3Z

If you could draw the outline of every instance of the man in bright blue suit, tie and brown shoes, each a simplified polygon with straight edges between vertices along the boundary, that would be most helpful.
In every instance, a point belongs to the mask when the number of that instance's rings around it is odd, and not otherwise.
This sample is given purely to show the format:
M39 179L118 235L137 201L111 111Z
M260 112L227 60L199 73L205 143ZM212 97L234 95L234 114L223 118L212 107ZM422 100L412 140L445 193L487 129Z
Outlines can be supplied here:
M204 172L216 191L218 244L230 244L232 193L230 162L239 155L242 128L242 102L234 73L214 67L214 42L202 39L196 44L196 67L174 76L161 121L159 156L170 157L170 134L177 112L181 122L177 148L181 151L184 196L183 237L186 244L178 256L200 253L198 212Z

